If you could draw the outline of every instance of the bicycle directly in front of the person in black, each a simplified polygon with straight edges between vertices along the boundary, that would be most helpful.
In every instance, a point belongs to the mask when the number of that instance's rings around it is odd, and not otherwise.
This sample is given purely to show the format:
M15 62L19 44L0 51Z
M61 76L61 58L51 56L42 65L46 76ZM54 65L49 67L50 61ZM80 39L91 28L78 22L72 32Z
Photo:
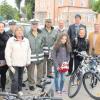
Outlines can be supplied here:
M78 68L75 71L73 71L70 76L68 85L68 96L70 98L76 96L77 93L79 92L82 85L83 76L86 72L89 71L89 62L91 61L91 59L93 59L93 57L88 56L84 52L78 52L78 51L75 52L78 53L78 56L81 56L83 60L78 66Z

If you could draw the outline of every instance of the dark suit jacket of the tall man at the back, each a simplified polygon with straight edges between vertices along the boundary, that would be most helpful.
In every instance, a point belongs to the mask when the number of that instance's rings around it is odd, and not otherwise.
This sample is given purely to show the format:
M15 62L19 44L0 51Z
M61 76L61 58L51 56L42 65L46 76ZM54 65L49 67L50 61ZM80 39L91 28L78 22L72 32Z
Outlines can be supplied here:
M80 24L79 27L84 27L85 30L86 30L86 26L83 25L83 24ZM86 30L86 34L87 34L87 30ZM73 40L75 39L75 37L76 37L75 24L72 24L72 25L69 26L68 35L69 35L70 41L71 41L71 43L72 43L72 41L73 41Z

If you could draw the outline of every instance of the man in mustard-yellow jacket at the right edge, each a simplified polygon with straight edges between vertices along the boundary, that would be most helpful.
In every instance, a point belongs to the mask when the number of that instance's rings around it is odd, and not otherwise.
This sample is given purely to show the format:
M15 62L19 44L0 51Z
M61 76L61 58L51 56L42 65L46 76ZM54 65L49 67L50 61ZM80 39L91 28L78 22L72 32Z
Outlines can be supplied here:
M89 33L89 54L100 55L100 23L94 24L94 32Z

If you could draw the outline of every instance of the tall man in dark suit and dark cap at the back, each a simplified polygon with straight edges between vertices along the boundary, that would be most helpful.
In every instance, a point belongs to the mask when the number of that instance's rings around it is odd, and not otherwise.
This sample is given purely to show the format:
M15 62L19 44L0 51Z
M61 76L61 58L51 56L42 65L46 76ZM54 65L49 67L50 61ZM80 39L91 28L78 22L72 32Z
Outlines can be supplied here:
M80 27L84 27L85 31L87 31L86 26L81 24L81 15L77 14L75 15L75 23L70 25L68 28L68 35L69 35L71 44L74 39L77 42L77 37L78 37ZM69 67L70 67L70 71L69 71L69 74L70 74L73 68L73 57L72 56L70 58Z

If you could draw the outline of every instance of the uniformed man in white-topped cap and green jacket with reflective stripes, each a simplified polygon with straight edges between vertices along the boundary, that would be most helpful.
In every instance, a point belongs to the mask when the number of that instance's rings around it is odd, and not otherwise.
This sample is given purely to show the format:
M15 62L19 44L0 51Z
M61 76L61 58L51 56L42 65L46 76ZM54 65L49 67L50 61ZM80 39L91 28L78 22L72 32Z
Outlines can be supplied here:
M31 20L31 31L27 34L31 46L31 64L27 67L28 71L28 81L29 89L34 90L35 84L37 86L41 85L41 79L43 77L43 46L44 46L44 37L41 30L38 29L38 20ZM34 80L34 69L37 67L37 82Z

